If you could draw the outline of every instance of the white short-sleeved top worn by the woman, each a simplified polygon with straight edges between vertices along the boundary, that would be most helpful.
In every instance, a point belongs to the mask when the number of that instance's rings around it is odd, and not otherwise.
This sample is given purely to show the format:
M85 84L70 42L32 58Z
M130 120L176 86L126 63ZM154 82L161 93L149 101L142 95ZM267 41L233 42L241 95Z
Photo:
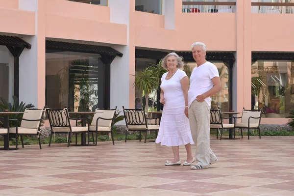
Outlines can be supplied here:
M166 101L164 108L185 107L184 92L180 80L187 76L186 73L183 70L178 69L170 80L166 80L167 74L168 72L162 75L160 85Z

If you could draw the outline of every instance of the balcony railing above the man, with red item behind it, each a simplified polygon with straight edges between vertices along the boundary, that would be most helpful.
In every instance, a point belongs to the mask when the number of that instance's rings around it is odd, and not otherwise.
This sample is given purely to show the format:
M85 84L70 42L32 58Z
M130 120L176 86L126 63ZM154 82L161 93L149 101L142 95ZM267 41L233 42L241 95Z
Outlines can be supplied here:
M236 2L190 2L183 1L184 13L235 13Z

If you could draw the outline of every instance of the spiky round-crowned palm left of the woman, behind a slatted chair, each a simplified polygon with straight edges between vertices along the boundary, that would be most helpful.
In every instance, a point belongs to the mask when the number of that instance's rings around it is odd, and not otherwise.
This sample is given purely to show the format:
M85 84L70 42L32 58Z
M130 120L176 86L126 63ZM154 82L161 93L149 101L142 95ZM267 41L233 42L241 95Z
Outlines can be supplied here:
M136 89L142 90L145 100L148 100L148 95L158 88L158 79L154 76L152 68L147 67L136 75L133 85ZM146 104L146 111L148 112L148 103Z

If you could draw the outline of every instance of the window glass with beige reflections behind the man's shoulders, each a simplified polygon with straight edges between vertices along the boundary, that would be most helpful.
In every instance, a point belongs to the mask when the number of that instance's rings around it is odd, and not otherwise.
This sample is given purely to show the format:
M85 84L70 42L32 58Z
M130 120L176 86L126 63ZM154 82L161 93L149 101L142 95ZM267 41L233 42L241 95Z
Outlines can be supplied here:
M229 88L226 87L229 82L228 68L220 62L213 62L219 71L221 79L221 91L216 95L211 96L211 109L220 108L222 112L229 112ZM184 71L187 76L190 77L193 69L196 67L196 63L185 63Z

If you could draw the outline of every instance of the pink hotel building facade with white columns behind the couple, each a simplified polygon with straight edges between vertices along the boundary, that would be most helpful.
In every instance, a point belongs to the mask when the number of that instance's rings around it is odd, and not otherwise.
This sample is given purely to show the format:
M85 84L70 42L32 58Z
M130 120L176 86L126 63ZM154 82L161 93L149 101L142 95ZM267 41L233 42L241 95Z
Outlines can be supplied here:
M100 0L99 5L95 0L0 0L1 96L11 101L18 95L38 108L76 110L82 107L82 90L93 88L87 95L98 97L93 106L133 108L140 62L144 67L175 51L193 66L191 45L201 41L208 60L226 66L222 94L227 95L220 99L228 102L226 110L264 108L274 115L265 113L262 123L288 122L285 116L294 106L290 4L151 1L148 7L144 0Z

